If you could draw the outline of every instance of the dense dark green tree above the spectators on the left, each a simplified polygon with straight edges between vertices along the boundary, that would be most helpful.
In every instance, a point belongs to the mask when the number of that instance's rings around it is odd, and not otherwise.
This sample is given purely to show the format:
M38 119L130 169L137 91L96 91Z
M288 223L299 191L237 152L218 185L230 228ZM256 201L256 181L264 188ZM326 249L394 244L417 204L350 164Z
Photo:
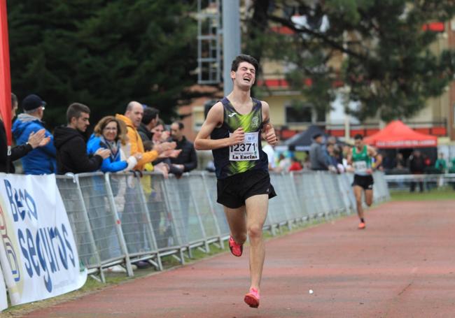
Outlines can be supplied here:
M169 118L195 82L194 10L195 1L8 1L13 91L48 102L51 127L73 101L90 106L92 123L131 100Z

